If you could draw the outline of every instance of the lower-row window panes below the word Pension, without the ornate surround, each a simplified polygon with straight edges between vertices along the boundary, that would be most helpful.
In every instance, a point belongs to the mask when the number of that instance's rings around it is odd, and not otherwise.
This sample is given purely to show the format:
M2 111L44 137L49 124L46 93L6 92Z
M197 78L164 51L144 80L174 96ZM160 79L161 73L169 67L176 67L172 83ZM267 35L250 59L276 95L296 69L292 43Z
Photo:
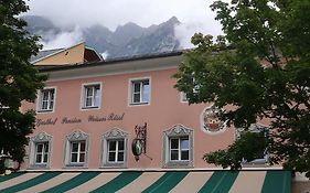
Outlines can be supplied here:
M71 163L84 163L85 162L85 141L71 141Z

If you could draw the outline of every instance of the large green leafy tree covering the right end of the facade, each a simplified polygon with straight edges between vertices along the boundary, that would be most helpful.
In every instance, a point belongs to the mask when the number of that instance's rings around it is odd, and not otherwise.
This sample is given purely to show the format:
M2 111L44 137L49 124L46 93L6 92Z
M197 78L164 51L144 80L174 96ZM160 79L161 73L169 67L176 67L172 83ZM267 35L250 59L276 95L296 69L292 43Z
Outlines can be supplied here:
M243 158L268 147L270 164L310 176L310 1L215 1L211 8L225 35L192 37L195 49L184 54L175 87L190 104L226 109L220 118L236 128L260 119L270 125L267 139L245 131L205 161L240 169Z

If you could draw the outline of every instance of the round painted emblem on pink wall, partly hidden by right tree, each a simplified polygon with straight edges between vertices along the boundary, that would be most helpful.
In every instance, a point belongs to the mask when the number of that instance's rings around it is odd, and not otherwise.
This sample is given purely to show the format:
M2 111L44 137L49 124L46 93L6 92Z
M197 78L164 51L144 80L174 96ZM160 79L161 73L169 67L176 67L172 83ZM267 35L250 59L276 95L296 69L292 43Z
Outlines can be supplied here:
M202 130L206 133L218 133L226 130L226 121L220 119L222 109L211 105L201 115Z

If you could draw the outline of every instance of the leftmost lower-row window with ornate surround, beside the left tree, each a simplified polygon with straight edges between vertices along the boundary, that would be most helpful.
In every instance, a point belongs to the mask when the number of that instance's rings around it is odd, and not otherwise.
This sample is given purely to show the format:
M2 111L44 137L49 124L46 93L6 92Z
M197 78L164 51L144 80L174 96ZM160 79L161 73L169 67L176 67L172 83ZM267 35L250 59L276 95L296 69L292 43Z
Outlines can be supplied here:
M40 132L30 138L30 168L47 168L50 164L52 136Z

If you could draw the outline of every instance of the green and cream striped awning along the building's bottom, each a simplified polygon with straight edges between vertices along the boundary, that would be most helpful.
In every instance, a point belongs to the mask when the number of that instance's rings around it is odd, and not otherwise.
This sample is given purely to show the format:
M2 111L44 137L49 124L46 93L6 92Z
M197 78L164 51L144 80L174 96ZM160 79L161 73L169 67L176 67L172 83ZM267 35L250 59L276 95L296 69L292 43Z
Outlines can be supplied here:
M0 176L0 192L290 193L291 172L270 171L51 171Z

